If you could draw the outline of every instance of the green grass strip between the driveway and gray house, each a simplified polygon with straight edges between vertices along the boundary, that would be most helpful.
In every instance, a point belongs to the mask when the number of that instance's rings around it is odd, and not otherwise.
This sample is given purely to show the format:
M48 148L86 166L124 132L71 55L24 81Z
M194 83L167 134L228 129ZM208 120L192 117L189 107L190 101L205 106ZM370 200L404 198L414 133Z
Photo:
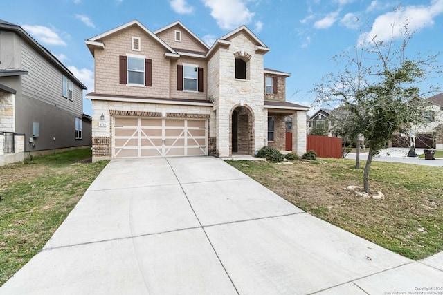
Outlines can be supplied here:
M107 161L78 163L91 149L0 167L0 285L41 251Z

